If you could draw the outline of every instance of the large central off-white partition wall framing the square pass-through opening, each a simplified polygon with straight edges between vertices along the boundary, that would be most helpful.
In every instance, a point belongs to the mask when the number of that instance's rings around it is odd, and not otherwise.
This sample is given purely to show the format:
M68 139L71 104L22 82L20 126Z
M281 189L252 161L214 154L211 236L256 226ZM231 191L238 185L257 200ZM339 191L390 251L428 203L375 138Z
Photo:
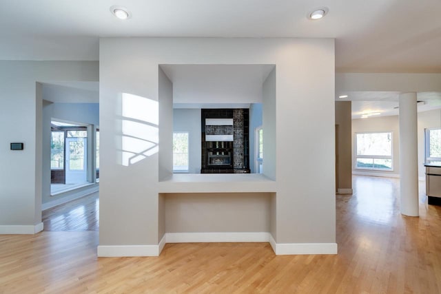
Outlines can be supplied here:
M267 95L272 114L263 85L263 125L277 132L267 143L277 154L276 242L334 244L334 39L111 38L100 41L100 245L158 244L161 235L158 154L124 166L119 143L121 94L161 103L159 64L276 65L265 82L277 93Z

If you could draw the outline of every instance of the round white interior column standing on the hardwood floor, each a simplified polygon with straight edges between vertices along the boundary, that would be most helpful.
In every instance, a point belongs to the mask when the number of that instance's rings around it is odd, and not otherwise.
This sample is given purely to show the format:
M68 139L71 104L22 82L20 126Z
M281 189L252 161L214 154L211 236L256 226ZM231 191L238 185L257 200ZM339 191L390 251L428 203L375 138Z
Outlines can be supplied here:
M402 93L400 105L400 211L418 216L418 139L416 93Z

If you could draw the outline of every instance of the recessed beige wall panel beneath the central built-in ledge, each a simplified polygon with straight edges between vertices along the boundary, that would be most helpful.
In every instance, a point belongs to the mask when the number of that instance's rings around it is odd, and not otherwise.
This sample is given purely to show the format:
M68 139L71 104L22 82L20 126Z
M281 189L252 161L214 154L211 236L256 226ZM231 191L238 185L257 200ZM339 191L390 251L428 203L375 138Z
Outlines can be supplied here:
M165 230L268 232L269 193L165 194Z

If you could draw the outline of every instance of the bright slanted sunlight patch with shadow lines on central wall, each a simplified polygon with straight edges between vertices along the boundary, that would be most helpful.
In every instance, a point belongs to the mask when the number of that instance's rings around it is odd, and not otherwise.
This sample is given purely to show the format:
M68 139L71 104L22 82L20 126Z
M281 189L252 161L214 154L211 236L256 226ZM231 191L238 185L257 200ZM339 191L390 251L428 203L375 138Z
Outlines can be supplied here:
M121 165L128 167L158 152L159 104L122 93L121 108Z

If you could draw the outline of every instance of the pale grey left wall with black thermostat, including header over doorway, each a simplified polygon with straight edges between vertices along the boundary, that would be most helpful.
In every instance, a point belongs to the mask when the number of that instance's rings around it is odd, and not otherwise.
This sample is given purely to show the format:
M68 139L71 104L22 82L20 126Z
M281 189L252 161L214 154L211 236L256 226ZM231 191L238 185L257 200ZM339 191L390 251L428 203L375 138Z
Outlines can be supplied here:
M42 94L36 83L98 81L98 70L96 61L0 61L0 162L8 167L0 171L0 229L41 223ZM11 151L11 142L23 142L23 151Z

